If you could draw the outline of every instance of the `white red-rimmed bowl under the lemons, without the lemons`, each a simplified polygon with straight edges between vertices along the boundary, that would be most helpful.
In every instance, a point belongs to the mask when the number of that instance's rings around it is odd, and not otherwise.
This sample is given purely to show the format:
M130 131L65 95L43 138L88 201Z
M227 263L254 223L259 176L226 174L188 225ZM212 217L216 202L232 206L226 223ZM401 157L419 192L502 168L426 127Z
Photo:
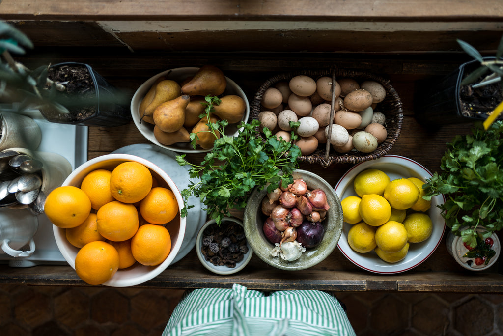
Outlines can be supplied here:
M335 191L341 200L348 196L358 196L353 189L355 177L366 169L378 169L386 173L390 180L397 178L415 177L426 181L432 174L420 163L411 160L404 156L384 155L381 158L359 163L352 167L337 183ZM358 253L354 251L348 244L348 231L351 224L344 223L341 239L337 246L341 252L355 265L364 270L380 273L393 274L410 270L417 265L420 265L430 257L442 240L445 231L445 221L442 218L442 210L437 205L443 204L445 198L443 195L438 195L432 198L432 205L427 211L433 221L432 235L425 241L420 243L410 243L409 250L405 259L397 263L387 263L381 260L374 251L369 253Z

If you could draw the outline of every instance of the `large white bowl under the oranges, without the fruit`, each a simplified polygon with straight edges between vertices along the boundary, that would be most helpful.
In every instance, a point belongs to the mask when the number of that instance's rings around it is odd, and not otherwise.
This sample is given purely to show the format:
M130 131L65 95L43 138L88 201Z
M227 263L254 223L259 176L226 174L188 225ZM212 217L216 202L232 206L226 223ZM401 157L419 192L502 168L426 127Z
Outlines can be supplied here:
M171 189L176 196L179 208L183 208L182 196L172 179L152 162L130 154L107 154L93 158L78 166L62 185L80 187L83 178L92 171L97 169L108 169L112 171L114 167L125 161L136 161L147 166L152 173L152 176L154 176L159 182L159 186ZM186 218L180 216L179 210L178 216L171 222L165 224L165 227L170 232L172 245L170 254L161 264L157 266L144 266L135 263L129 268L118 270L112 279L105 282L103 285L111 287L136 286L154 278L170 266L176 258L178 251L182 247L182 241L184 239L186 229ZM75 269L75 257L77 255L78 248L66 240L64 229L53 225L53 232L56 244L61 254L66 262Z

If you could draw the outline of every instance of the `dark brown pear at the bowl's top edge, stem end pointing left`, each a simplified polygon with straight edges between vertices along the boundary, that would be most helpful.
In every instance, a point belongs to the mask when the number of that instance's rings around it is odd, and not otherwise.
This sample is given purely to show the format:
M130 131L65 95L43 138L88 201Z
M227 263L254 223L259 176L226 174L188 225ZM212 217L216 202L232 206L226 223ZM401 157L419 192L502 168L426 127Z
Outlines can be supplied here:
M190 81L182 86L182 92L191 96L219 96L227 87L227 80L222 70L214 65L204 65Z

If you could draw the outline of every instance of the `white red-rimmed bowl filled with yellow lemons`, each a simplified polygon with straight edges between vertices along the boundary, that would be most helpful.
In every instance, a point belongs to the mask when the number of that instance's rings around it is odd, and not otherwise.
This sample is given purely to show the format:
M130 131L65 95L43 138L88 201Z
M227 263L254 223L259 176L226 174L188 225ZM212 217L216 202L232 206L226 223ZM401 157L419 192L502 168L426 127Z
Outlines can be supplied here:
M360 268L380 274L410 270L439 245L445 222L437 205L443 195L423 199L432 174L407 157L385 155L350 169L335 191L344 226L338 247Z

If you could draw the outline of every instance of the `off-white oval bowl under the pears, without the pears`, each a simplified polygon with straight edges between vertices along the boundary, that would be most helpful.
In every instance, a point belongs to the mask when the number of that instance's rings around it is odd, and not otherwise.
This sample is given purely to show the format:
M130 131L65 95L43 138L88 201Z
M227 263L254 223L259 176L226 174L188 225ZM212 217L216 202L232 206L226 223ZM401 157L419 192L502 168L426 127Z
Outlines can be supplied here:
M160 72L156 74L155 76L150 77L147 81L145 81L139 88L136 90L135 94L133 95L133 98L131 100L131 116L133 118L133 122L140 131L141 134L148 140L150 140L152 143L166 148L170 149L176 152L184 152L184 153L201 153L201 152L208 152L211 149L202 149L202 148L197 148L194 149L192 145L187 142L187 143L175 143L171 146L166 146L161 144L159 141L154 136L153 129L154 125L149 124L147 122L141 122L140 123L140 115L138 112L141 100L143 97L146 95L148 90L150 90L150 87L153 85L153 83L159 78L160 76L165 76L166 79L173 79L175 81L180 82L181 80L184 80L187 77L193 76L196 74L196 72L199 70L198 67L183 67L183 68L175 68L171 70L166 70L163 72ZM244 92L239 88L239 86L229 77L225 77L227 79L227 88L225 89L225 92L222 94L224 95L237 95L241 97L245 104L246 104L246 110L244 111L243 118L241 121L246 122L248 120L249 116L249 103L248 99L246 98L246 95ZM190 130L188 130L190 132ZM226 135L234 135L238 131L237 124L229 124L225 127L225 134Z

